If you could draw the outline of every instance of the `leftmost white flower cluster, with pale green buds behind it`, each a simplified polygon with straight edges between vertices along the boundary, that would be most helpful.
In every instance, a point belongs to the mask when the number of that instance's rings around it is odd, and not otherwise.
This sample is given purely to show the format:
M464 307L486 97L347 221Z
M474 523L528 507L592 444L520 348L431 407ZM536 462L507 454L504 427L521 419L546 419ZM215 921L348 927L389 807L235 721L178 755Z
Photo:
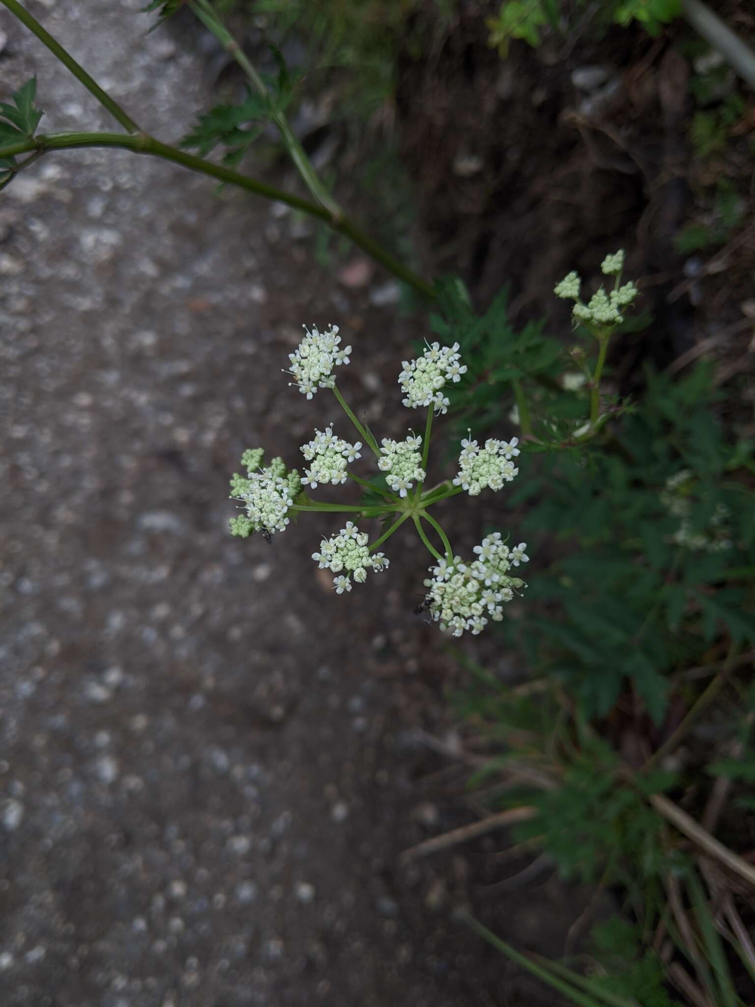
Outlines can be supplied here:
M254 532L268 535L283 532L289 524L288 509L301 491L301 479L295 468L287 471L283 458L273 458L262 468L262 448L245 451L242 464L247 477L236 473L231 480L231 495L243 501L247 514L232 518L231 533L246 539Z

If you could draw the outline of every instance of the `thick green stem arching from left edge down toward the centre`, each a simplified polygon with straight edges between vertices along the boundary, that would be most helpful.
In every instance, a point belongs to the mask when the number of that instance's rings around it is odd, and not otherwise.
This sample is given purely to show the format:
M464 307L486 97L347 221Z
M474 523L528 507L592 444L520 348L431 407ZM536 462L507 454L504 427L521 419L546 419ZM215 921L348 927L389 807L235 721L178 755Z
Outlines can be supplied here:
M6 2L7 0L0 0L0 3ZM196 157L185 150L170 147L168 144L161 143L146 133L139 133L136 136L126 136L122 133L42 133L28 140L3 147L0 150L0 157L14 157L17 154L24 154L27 151L47 153L51 150L71 150L85 147L120 147L123 150L130 150L135 154L149 154L153 157L160 157L163 160L172 161L174 164L180 164L190 171L198 171L201 174L209 175L210 178L216 178L217 181L225 182L229 185L238 185L240 188L246 189L248 192L254 192L255 195L261 195L265 199L285 202L286 205L292 206L294 209L300 209L310 217L316 217L318 220L324 221L333 231L344 235L357 248L360 248L362 252L365 252L382 266L385 266L398 279L414 287L424 297L430 299L435 297L435 291L429 283L426 283L416 273L413 273L411 269L408 269L398 259L395 259L386 252L384 248L378 245L376 242L373 242L368 235L365 235L346 218L338 223L334 223L323 206L318 206L316 203L310 202L308 199L302 199L291 192L285 192L274 185L258 181L258 179L251 178L249 175L243 175L232 168L226 168L222 164L212 164L211 161Z

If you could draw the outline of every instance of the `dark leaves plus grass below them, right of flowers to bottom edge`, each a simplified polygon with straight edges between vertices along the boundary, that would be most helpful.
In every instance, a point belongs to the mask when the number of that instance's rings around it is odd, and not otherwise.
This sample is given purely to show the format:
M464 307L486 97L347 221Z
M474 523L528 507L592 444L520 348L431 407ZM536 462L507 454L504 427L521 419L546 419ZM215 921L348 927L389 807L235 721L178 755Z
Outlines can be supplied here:
M598 971L580 980L550 963L558 976L596 1003L673 1007L663 964L645 943L666 912L670 870L692 905L711 1003L739 1004L707 896L650 801L673 797L690 778L628 770L620 754L627 727L645 744L673 730L666 718L671 696L682 699L677 673L710 661L712 646L731 655L755 643L754 445L728 422L738 390L716 390L705 364L676 379L648 368L635 402L599 399L601 425L591 412L598 335L578 329L567 352L543 325L514 330L505 294L478 316L454 280L439 287L439 304L433 328L461 344L468 366L452 395L457 436L470 425L476 437L510 439L522 419L512 407L528 404L517 458L527 478L507 500L527 552L541 557L526 604L500 628L544 688L517 696L464 661L478 686L457 709L478 732L486 725L493 748L470 785L484 783L496 805L535 808L515 838L542 848L563 877L626 893L636 918L622 915L596 934ZM689 692L684 702L694 703ZM749 704L745 754L710 768L735 780L744 809L755 808L746 793L755 781L747 747L755 687Z

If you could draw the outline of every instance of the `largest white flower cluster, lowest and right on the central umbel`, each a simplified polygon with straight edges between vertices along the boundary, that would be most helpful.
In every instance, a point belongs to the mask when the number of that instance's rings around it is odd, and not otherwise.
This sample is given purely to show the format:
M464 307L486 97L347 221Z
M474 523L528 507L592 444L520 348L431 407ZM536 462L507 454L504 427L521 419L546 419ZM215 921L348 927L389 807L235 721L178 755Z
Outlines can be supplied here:
M494 532L475 546L477 559L472 563L462 563L455 556L453 563L441 560L430 567L433 576L425 581L425 600L441 629L450 629L454 636L461 636L464 630L477 635L487 625L488 616L500 622L504 603L526 586L518 577L508 576L512 566L528 560L525 549L523 542L509 549L500 533Z

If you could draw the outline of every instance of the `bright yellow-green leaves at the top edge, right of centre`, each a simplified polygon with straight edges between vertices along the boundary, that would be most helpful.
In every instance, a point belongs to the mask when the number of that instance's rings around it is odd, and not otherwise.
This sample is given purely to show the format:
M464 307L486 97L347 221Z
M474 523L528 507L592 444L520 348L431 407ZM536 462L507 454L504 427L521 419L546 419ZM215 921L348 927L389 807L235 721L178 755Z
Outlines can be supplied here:
M575 0L570 5L563 0L504 0L497 16L485 22L490 32L488 44L501 56L507 54L512 38L521 38L537 48L544 28L568 31L570 15L575 19L587 16L598 35L611 23L627 27L637 21L655 36L663 25L682 16L682 0L609 0L600 5L588 0Z

